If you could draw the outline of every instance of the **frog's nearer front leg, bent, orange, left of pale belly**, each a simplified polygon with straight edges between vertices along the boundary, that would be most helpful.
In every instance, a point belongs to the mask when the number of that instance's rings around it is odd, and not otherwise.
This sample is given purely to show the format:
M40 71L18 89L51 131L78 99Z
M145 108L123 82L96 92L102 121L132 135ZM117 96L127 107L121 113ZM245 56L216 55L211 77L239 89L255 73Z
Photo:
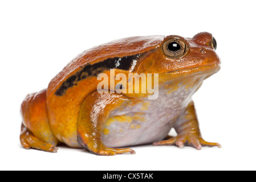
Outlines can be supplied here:
M131 148L109 148L101 142L101 133L109 114L127 101L122 94L94 92L83 101L78 117L78 142L96 155L135 154Z

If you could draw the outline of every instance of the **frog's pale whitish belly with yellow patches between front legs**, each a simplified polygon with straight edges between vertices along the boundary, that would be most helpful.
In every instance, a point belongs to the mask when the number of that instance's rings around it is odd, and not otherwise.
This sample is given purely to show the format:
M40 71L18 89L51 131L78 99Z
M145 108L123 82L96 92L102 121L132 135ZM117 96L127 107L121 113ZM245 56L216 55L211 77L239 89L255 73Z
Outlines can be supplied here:
M144 100L116 109L105 122L102 142L107 147L127 147L164 139L178 115L188 106L193 91L179 88L168 93L161 90L157 100Z

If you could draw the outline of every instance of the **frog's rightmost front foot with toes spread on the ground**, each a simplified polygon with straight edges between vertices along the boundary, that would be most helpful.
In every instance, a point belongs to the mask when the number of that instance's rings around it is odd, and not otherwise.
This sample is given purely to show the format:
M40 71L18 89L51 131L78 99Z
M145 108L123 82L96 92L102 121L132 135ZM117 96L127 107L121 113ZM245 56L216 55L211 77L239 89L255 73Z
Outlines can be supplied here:
M221 145L218 143L206 142L204 139L199 137L198 135L177 135L177 137L173 137L167 140L162 140L160 142L153 143L155 146L161 145L176 145L180 148L184 148L185 145L192 146L197 150L201 150L202 146L214 147L217 146L221 148Z

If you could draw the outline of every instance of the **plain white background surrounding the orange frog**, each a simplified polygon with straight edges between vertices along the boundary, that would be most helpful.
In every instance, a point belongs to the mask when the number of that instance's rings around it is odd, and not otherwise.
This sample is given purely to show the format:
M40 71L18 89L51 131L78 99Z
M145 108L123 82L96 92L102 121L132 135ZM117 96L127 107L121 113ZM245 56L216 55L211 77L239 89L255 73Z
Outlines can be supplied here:
M0 1L0 169L256 169L253 1ZM194 95L202 135L222 148L132 147L136 155L57 154L19 143L21 102L85 49L129 36L211 32L221 71ZM157 121L156 121L157 122Z

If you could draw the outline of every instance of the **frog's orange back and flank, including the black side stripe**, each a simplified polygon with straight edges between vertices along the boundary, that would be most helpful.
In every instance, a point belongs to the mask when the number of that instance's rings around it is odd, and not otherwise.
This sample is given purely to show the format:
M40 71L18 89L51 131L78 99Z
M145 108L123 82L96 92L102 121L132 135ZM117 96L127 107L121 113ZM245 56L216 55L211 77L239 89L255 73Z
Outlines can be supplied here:
M48 85L47 110L55 136L71 147L76 141L80 104L97 88L97 75L105 69L131 69L132 60L158 48L164 36L120 39L88 49L75 57ZM120 63L116 60L121 60ZM67 126L67 127L66 127Z

